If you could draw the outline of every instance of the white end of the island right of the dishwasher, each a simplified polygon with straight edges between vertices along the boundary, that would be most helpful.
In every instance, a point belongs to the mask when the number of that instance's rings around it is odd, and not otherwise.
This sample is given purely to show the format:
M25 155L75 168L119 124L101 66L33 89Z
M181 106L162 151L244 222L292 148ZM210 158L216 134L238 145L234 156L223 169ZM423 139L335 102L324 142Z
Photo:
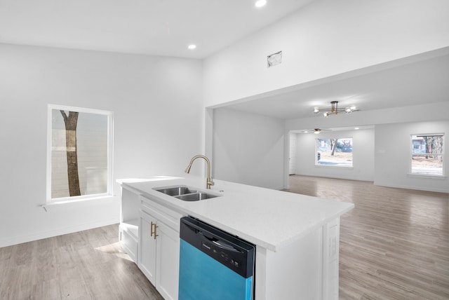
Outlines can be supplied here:
M339 228L338 217L276 252L257 246L255 299L338 299Z

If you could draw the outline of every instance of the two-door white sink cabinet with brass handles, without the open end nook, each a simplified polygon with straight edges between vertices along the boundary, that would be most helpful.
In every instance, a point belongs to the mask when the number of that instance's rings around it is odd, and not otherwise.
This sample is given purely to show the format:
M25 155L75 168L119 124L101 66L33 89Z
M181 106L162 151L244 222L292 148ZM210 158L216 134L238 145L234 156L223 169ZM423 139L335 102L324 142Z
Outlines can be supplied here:
M164 299L177 299L182 214L140 199L138 266Z

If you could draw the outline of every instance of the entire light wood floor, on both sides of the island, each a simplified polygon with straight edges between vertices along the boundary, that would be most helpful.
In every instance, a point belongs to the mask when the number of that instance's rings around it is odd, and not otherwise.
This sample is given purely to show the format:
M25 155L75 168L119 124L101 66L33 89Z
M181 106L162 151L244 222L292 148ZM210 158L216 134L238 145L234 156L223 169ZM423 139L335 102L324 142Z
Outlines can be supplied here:
M449 299L449 194L297 175L289 191L355 204L341 218L340 299ZM162 299L118 231L0 248L0 299Z

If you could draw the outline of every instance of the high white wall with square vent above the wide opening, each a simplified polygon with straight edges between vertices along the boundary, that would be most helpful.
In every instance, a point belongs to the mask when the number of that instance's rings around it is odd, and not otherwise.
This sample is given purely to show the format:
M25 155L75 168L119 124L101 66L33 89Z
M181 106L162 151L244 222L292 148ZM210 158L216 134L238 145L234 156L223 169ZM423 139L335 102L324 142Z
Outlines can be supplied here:
M208 57L206 107L446 47L448 11L446 0L313 1Z

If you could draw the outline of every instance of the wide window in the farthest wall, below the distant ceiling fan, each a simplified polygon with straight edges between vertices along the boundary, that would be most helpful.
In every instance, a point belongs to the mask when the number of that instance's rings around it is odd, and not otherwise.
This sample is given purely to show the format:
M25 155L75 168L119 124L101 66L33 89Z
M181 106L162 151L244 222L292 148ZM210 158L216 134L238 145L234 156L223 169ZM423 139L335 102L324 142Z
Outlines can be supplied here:
M352 167L352 138L316 139L315 160L315 165Z

